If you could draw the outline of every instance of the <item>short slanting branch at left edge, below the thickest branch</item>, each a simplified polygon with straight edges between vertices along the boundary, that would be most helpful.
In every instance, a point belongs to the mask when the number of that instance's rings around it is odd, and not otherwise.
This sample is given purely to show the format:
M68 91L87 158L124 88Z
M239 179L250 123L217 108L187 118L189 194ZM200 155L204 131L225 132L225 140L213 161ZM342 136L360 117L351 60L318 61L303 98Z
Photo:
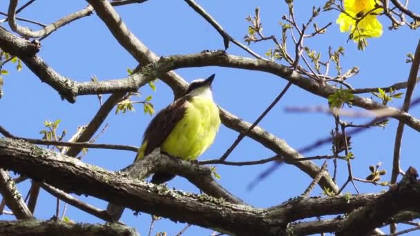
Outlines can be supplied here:
M6 200L6 205L17 219L32 219L32 213L23 201L22 195L16 188L15 181L10 178L6 170L0 169L0 193Z

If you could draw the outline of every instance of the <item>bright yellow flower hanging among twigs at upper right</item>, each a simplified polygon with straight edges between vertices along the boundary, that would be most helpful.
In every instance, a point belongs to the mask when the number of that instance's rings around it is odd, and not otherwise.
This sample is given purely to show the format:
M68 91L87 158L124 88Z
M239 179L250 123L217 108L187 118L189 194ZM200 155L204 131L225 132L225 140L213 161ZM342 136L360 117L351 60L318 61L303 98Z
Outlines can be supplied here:
M341 32L350 31L350 39L355 42L365 41L365 38L381 37L382 25L376 19L376 14L382 8L376 8L375 0L343 0L344 10L336 21Z

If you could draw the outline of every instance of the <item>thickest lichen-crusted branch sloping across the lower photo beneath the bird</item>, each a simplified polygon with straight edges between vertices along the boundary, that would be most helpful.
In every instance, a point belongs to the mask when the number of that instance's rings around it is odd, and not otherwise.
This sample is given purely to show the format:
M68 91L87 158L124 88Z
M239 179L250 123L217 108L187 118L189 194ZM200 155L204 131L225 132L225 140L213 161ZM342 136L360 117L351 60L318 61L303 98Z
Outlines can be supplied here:
M189 161L160 154L156 157L150 155L144 157L148 158L155 158L153 162L158 163L158 168L178 165L178 170L184 171L178 174L188 176L187 169L190 169L191 173L197 175L198 165ZM169 190L165 186L155 186L128 178L124 173L111 173L97 166L84 164L77 159L12 139L0 139L0 166L34 179L44 179L46 183L69 193L92 195L136 211L240 235L257 232L278 235L283 232L287 222L319 215L348 213L382 196L354 195L350 198L336 196L294 199L272 208L252 208L230 204L208 195L193 195ZM151 171L151 166L144 168L144 172L140 175ZM134 169L128 168L126 171L130 170ZM136 173L139 172L136 170Z

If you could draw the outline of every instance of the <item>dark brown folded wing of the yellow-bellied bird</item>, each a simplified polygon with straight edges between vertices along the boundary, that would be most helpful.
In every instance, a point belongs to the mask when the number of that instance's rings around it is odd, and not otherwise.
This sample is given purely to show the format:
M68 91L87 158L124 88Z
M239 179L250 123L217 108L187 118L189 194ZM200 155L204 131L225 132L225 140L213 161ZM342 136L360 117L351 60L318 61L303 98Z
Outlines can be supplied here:
M144 132L143 140L147 140L147 146L144 155L148 155L155 148L159 147L162 142L171 133L175 124L182 119L187 110L186 102L188 97L181 97L167 106L151 120Z

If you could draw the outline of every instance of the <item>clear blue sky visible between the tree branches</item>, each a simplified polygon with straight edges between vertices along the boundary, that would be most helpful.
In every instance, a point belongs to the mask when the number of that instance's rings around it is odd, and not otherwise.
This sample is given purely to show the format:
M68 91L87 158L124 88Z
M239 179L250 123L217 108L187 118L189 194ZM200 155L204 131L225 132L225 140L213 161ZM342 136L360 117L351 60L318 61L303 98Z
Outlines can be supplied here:
M7 12L6 1L1 1L0 9ZM296 17L298 22L304 23L312 12L309 1L296 1ZM311 1L316 6L323 5L323 1ZM245 17L254 14L256 6L260 7L261 19L266 35L276 35L280 38L281 28L278 22L283 14L287 14L287 6L283 1L198 1L229 34L242 41L247 32ZM258 5L257 5L258 4ZM412 9L420 9L420 3L411 1ZM35 19L43 23L50 23L66 14L82 9L87 5L85 1L36 1L29 9L19 14L20 17ZM204 21L184 1L150 0L143 4L118 7L123 21L139 39L158 55L189 54L209 49L222 49L222 39L209 23ZM342 59L343 70L352 66L359 66L359 75L350 79L355 88L388 86L392 83L405 81L410 65L405 63L405 55L414 52L419 32L401 28L389 31L386 26L388 19L381 18L384 32L379 39L369 39L369 46L364 52L356 50L356 45L347 41L347 34L339 32L335 23L338 12L331 11L319 17L318 26L332 21L325 35L314 39L307 39L306 45L313 50L320 51L326 56L328 46L338 48L345 46L345 57ZM112 37L108 29L95 15L79 19L61 28L41 42L39 55L57 72L76 81L89 81L92 75L99 80L116 79L127 76L126 69L134 68L137 62ZM260 55L269 48L274 48L271 42L251 44L252 50ZM289 48L292 48L290 45ZM231 43L229 54L247 55L246 52ZM325 59L325 57L323 57ZM22 137L41 138L39 131L44 129L44 120L61 119L59 131L66 129L68 137L73 135L77 126L88 124L99 108L96 96L78 97L75 104L61 101L58 93L41 83L35 75L23 66L21 72L15 72L12 64L6 66L10 75L4 77L4 97L0 99L1 126L12 134ZM190 68L177 70L184 79L191 81L198 77L208 77L216 73L213 82L213 92L217 103L235 115L249 122L254 120L265 110L286 84L285 79L263 72L247 70L233 70L228 68ZM152 102L156 110L160 110L173 101L173 95L168 86L161 81L156 83L157 90L141 88L142 97L153 95ZM418 93L414 92L414 97ZM371 97L371 95L365 95ZM104 96L108 97L107 95ZM401 101L394 101L390 106L400 106ZM299 149L314 141L327 137L334 128L334 119L325 114L303 114L285 112L290 106L327 106L327 101L316 97L304 90L292 86L280 103L262 120L260 126L268 132L285 139L289 146ZM151 117L144 115L142 106L137 106L135 112L126 115L111 113L106 119L109 124L106 132L98 139L101 144L140 144L144 128ZM412 115L419 117L419 108L410 110ZM357 124L368 119L347 119ZM361 135L352 138L356 159L353 161L353 171L356 177L364 178L369 174L368 166L381 161L388 174L383 178L390 179L392 166L392 150L397 121L391 120L387 128L372 128ZM200 159L220 157L237 137L237 132L222 126L216 141ZM401 147L402 168L408 166L419 167L417 161L417 132L405 128L403 146ZM331 146L325 145L305 153L305 156L331 154ZM244 139L230 155L231 161L248 161L262 159L273 155L262 145L251 139ZM90 149L83 158L89 164L95 164L108 170L119 170L133 161L134 153L125 151ZM321 165L321 161L316 161ZM283 165L275 173L262 181L254 190L247 190L247 185L271 164L261 166L235 167L218 166L221 175L220 184L231 193L238 195L249 204L257 207L268 207L296 197L303 193L311 179L294 166ZM330 171L332 164L330 164ZM347 168L344 163L338 166L338 184L347 179ZM385 187L374 187L369 184L357 183L362 193L380 193ZM19 185L23 195L28 191L28 181ZM169 186L180 190L197 193L198 190L184 179L177 177ZM347 186L345 193L354 193L352 186ZM316 188L313 195L320 195L322 190ZM77 196L99 208L105 208L106 202L93 197ZM55 199L41 191L39 204L35 216L39 219L49 219L55 214ZM102 222L97 218L83 213L81 210L68 206L66 215L75 222ZM1 215L0 219L12 219ZM126 210L122 221L137 228L138 232L146 235L149 232L151 217L142 214L133 217L131 210ZM175 235L184 224L175 224L162 219L155 224L153 235L159 231L166 231ZM193 226L184 235L210 235L213 231Z

